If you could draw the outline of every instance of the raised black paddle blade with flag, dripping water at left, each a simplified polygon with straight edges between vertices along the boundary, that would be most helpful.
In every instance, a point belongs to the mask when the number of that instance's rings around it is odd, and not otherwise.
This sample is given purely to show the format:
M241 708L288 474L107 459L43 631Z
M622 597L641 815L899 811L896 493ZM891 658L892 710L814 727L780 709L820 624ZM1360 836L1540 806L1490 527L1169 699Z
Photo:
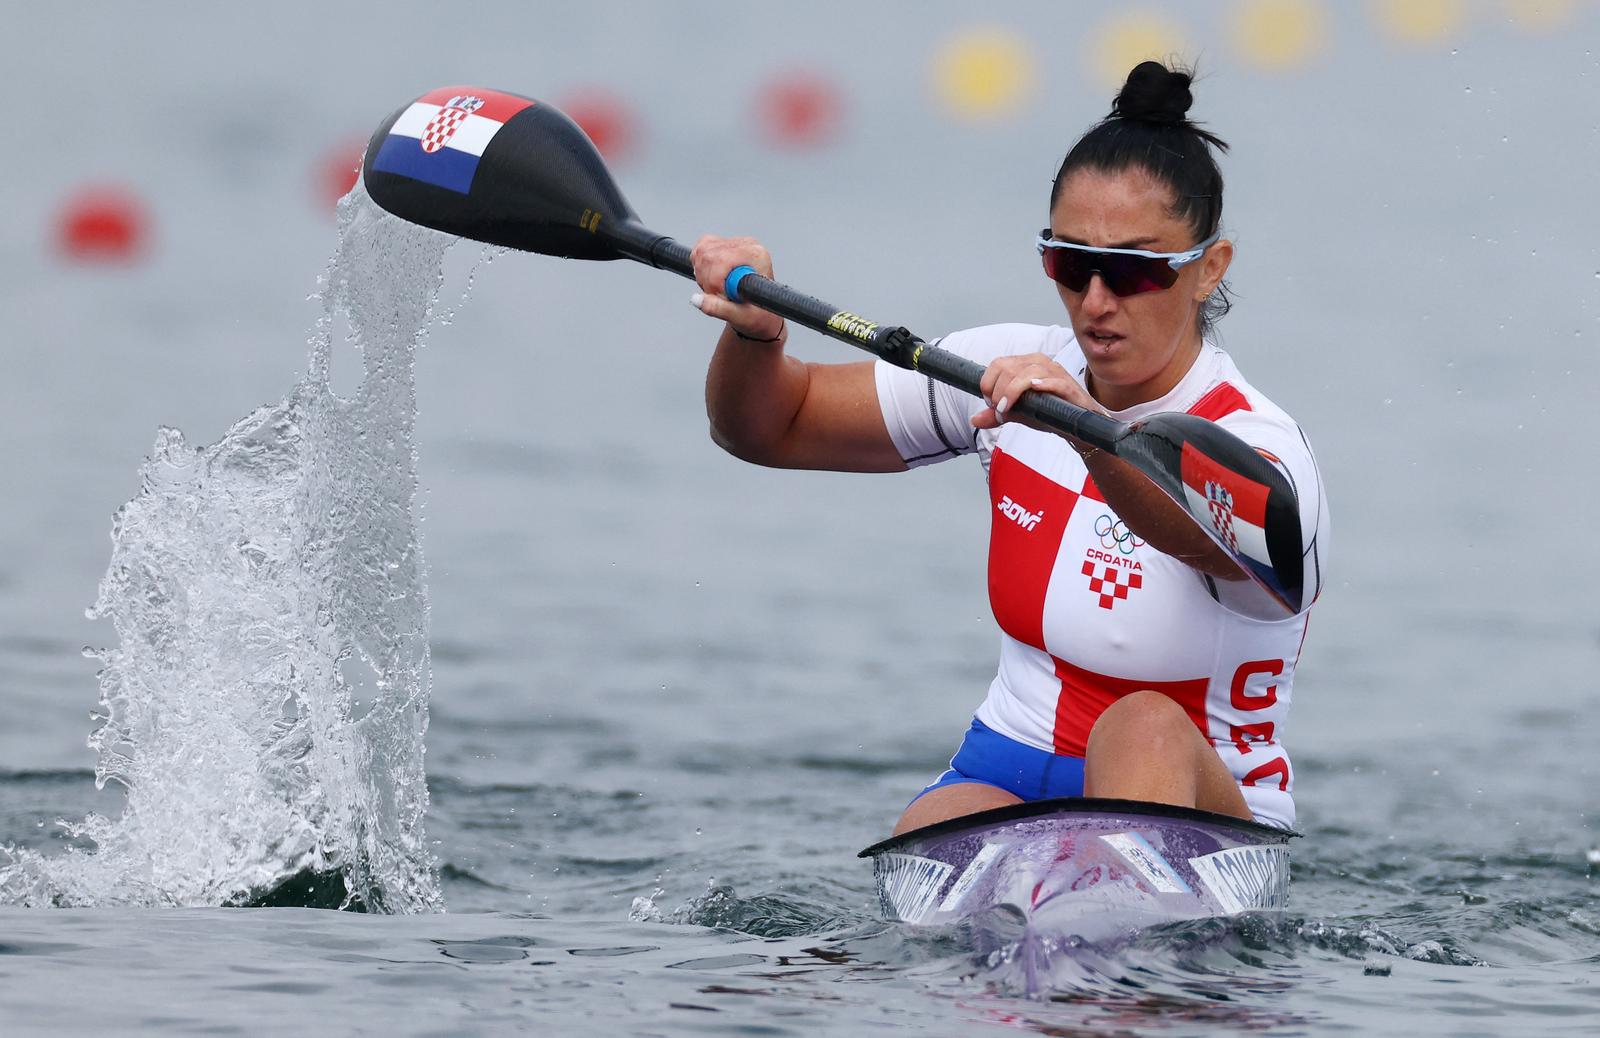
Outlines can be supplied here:
M618 259L606 232L637 219L578 123L478 86L429 91L386 118L362 178L400 219L547 256Z

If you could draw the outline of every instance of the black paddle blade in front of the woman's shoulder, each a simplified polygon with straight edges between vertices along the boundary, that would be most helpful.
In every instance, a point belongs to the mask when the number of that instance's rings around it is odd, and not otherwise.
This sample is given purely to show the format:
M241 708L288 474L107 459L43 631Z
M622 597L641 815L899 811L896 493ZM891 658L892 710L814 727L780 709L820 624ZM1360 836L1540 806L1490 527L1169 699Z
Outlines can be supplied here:
M1290 613L1306 595L1294 488L1238 437L1194 414L1152 414L1117 440L1134 464Z

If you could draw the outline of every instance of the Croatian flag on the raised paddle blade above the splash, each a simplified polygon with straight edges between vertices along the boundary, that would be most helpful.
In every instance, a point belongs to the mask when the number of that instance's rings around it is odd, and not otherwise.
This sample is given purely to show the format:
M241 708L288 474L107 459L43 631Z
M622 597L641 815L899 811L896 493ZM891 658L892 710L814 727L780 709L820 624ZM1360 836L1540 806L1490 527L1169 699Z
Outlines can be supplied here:
M472 190L483 149L512 115L528 107L533 101L526 98L474 86L442 86L426 93L389 128L373 158L373 170L464 195Z

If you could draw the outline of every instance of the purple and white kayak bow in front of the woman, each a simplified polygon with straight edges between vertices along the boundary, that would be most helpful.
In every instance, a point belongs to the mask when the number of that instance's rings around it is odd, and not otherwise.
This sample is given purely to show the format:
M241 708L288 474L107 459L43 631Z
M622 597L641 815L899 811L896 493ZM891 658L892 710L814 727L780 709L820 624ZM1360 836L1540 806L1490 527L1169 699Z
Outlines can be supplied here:
M1192 808L1074 796L938 822L861 857L872 859L886 918L963 924L979 953L1024 960L1034 988L1064 948L1285 910L1298 835Z

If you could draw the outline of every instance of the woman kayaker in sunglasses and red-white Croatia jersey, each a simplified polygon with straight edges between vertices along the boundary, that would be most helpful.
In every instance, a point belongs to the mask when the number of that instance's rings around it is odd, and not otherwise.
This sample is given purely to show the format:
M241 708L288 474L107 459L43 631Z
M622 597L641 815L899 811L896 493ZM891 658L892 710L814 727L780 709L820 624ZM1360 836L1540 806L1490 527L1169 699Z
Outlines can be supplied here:
M811 365L786 323L730 302L730 270L773 277L752 238L694 245L693 302L726 321L706 381L712 437L790 469L898 472L978 454L989 477L989 597L1000 667L950 768L896 832L1046 796L1115 796L1291 825L1280 736L1322 589L1326 504L1299 425L1208 333L1227 310L1216 136L1187 118L1192 75L1138 66L1067 154L1035 248L1069 326L946 336L986 365L978 400L883 361ZM1024 393L1136 421L1186 411L1256 448L1294 491L1306 608L1285 616L1126 462L1013 421Z

